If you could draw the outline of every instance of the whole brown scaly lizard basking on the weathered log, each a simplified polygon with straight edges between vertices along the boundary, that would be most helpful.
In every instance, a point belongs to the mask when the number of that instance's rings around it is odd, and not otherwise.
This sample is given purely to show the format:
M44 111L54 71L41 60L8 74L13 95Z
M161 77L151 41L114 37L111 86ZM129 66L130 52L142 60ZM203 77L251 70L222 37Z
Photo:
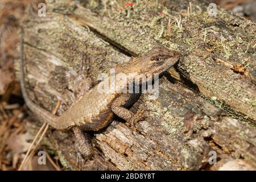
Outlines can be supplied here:
M131 125L138 119L138 114L132 113L127 107L138 100L140 93L99 93L97 86L83 93L60 116L53 115L48 110L36 105L26 92L22 28L20 28L20 32L20 87L24 101L28 109L53 128L64 131L73 130L75 149L80 159L87 160L93 156L90 135L83 133L83 131L104 129L112 121L114 114L119 118L125 119ZM177 51L171 51L163 46L156 46L143 55L131 57L127 63L117 65L115 70L117 73L155 75L167 71L178 60L179 53ZM127 81L123 88L128 88L130 84L134 85L134 82ZM142 84L142 82L139 82L139 84Z

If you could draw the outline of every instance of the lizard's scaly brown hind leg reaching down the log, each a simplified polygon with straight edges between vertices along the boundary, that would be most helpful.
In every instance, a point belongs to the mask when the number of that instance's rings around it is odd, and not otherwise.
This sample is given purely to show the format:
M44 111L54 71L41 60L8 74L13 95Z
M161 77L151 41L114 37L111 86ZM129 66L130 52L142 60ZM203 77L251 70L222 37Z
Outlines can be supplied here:
M77 163L80 169L84 166L86 160L93 155L92 141L89 133L83 133L80 127L72 127L75 135L75 149L77 152Z

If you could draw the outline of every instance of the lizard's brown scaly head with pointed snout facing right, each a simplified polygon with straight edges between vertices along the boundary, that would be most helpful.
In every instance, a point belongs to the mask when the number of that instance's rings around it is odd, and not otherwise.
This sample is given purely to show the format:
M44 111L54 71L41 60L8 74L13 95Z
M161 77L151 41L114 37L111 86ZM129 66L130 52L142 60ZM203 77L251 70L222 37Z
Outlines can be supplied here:
M160 74L167 71L179 60L179 53L171 51L163 46L152 48L144 55L139 56L141 73Z

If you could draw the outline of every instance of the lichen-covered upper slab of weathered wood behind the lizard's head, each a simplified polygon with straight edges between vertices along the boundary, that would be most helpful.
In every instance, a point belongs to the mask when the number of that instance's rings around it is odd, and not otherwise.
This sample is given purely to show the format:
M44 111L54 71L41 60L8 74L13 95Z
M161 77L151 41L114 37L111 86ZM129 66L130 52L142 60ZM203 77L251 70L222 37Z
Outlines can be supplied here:
M202 94L216 97L237 117L242 113L256 120L255 23L225 10L211 17L207 1L192 2L191 15L187 14L188 1L162 0L157 6L156 1L139 1L129 17L120 13L126 1L118 1L119 8L108 1L106 11L101 3L90 2L71 6L56 1L48 7L91 27L132 54L158 43L180 51L183 56L177 68ZM172 23L179 16L181 29Z

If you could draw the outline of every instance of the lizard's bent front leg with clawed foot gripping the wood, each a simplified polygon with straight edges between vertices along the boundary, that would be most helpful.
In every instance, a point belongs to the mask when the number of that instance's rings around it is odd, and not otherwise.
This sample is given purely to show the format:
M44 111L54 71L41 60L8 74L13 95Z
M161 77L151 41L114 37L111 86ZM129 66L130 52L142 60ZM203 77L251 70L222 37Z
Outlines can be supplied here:
M134 102L138 100L140 95L141 94L138 93L123 93L115 99L111 106L113 113L118 117L125 119L125 121L129 122L133 129L134 123L139 121L143 117L143 114L141 112L134 114L130 110L126 109L126 107L134 104Z

